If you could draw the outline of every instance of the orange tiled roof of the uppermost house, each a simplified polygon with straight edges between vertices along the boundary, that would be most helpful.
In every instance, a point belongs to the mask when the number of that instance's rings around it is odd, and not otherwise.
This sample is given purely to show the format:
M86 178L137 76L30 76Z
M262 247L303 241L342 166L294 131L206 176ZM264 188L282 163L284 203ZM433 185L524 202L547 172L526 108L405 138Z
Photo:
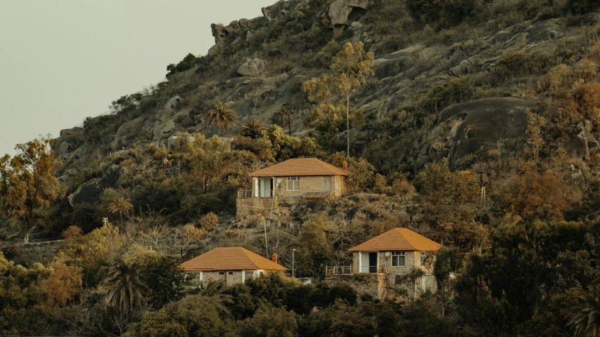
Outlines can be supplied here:
M317 158L298 158L283 161L267 169L250 173L251 177L350 176L350 173Z

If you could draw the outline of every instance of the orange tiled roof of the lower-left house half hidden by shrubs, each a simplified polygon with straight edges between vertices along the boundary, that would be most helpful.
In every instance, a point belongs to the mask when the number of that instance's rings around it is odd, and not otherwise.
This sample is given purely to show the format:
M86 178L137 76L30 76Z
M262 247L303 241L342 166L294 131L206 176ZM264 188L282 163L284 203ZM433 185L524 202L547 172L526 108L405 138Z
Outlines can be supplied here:
M241 247L219 247L181 263L185 272L221 270L288 270Z

